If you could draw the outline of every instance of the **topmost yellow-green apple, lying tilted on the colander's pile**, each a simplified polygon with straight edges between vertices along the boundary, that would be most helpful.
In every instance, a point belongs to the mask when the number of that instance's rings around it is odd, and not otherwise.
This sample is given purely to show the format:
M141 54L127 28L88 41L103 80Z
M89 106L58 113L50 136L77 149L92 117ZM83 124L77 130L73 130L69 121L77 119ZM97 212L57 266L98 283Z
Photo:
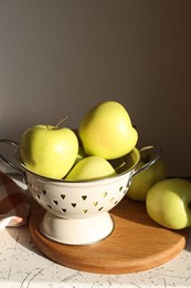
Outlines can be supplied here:
M87 155L106 160L129 153L138 140L126 109L115 101L106 101L91 109L82 117L78 133Z

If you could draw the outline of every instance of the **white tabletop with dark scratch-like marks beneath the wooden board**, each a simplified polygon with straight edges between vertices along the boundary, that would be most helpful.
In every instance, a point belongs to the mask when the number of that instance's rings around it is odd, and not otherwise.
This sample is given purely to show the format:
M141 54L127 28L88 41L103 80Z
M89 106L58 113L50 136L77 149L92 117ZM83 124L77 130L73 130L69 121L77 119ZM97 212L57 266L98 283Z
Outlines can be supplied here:
M21 184L20 181L17 183ZM7 228L0 233L0 287L187 288L191 287L191 239L181 254L155 269L138 274L97 275L70 269L46 259L32 244L28 227Z

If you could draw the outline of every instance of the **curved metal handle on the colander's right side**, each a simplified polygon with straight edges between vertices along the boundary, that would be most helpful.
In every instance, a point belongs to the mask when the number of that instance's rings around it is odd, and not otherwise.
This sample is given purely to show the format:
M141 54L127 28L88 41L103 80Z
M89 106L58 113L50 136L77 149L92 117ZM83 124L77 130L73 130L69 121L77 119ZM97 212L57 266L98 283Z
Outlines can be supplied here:
M145 146L139 150L140 153L140 158L144 153L147 153L150 155L150 160L139 169L135 169L132 173L131 177L138 175L139 173L144 172L145 169L149 168L153 163L156 163L159 157L161 156L162 148L159 145L150 145L150 146Z

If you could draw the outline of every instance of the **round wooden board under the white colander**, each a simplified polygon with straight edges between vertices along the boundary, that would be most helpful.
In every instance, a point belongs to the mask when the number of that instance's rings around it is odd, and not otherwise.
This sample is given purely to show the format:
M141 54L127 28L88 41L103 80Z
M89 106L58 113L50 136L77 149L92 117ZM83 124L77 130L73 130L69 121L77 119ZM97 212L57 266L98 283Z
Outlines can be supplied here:
M45 210L32 203L29 220L34 245L63 266L97 274L128 274L160 266L184 247L189 229L170 230L153 223L144 203L125 197L112 212L115 230L106 239L86 246L52 241L39 229Z

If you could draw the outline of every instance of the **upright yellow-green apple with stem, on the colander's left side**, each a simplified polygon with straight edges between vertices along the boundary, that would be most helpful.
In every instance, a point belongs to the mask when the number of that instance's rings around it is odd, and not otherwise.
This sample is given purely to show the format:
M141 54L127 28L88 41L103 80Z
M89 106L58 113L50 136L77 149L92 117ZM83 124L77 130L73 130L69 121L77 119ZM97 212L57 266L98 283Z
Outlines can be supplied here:
M67 127L35 125L20 141L20 155L26 168L50 178L63 178L73 166L77 153L77 137Z

